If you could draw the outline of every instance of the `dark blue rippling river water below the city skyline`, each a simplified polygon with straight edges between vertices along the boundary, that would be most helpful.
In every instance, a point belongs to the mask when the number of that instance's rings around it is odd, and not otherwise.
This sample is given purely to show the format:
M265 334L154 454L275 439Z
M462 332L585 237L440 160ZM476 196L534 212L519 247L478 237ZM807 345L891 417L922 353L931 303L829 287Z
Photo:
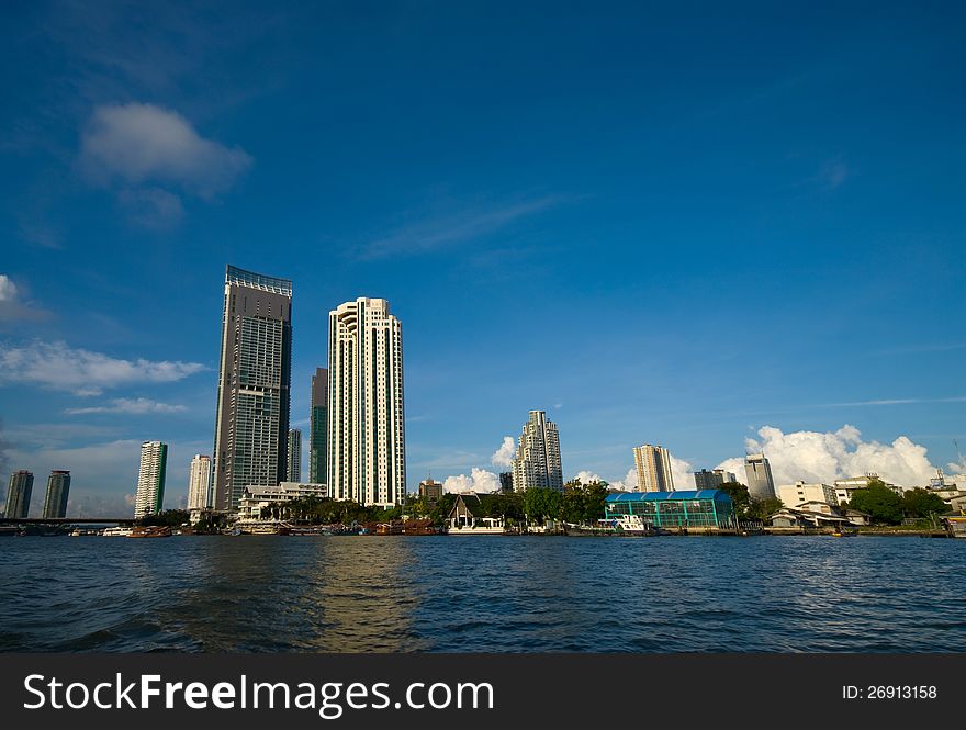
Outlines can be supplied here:
M966 540L14 537L0 651L966 651Z

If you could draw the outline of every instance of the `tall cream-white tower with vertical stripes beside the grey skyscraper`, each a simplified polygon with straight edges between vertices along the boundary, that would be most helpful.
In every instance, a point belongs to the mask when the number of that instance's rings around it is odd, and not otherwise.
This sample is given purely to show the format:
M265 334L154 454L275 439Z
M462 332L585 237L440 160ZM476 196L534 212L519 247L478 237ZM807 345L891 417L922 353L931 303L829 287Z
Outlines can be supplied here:
M336 499L390 506L406 494L403 330L384 299L328 315L326 469Z

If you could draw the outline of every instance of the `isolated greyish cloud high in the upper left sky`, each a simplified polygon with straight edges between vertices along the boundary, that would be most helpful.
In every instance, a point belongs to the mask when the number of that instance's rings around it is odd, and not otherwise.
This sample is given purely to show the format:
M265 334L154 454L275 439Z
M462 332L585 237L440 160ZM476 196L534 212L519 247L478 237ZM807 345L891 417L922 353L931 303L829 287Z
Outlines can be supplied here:
M101 184L158 182L211 198L250 165L243 149L205 139L178 112L154 104L98 106L81 138L81 169Z

